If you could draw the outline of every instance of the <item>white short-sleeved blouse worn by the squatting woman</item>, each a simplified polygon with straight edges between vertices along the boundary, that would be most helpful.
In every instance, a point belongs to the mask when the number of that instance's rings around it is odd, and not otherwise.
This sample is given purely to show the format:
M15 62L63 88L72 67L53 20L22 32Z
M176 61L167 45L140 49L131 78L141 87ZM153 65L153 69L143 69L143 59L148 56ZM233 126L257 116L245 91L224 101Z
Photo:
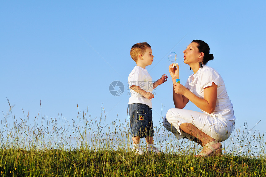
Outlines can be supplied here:
M227 94L225 83L221 75L215 69L209 66L199 68L197 73L188 77L185 87L199 98L204 99L203 89L211 86L212 82L217 85L217 101L215 110L211 114L203 110L201 111L210 116L217 116L218 118L224 118L227 120L235 120L236 118L234 116L233 104Z

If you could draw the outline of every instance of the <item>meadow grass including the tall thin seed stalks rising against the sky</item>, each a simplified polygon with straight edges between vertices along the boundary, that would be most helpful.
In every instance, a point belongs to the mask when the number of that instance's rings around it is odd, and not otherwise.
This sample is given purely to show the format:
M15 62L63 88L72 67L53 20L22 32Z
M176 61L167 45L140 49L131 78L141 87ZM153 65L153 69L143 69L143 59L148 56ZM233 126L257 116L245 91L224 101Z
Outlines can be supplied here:
M163 153L135 156L128 120L105 120L104 109L98 118L78 110L71 122L62 115L30 121L29 113L16 119L10 106L0 127L1 176L266 176L264 134L246 124L235 130L234 143L222 143L225 156L196 158L201 147L163 126L154 136Z

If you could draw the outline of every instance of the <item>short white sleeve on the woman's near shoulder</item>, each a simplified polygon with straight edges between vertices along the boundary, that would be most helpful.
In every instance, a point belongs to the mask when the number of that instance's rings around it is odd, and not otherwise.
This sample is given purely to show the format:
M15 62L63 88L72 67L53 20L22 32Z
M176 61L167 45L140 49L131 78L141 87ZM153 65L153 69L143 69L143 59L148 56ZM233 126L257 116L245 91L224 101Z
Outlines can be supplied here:
M221 76L219 73L214 69L206 69L201 77L201 86L202 88L206 88L208 86L212 85L212 82L215 83L215 85L219 86L220 84L220 78Z

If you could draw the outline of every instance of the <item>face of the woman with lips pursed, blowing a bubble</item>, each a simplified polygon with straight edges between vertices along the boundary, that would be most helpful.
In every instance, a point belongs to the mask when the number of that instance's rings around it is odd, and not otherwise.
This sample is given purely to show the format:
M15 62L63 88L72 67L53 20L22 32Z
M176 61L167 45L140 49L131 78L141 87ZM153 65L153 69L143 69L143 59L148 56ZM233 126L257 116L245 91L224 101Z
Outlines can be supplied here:
M183 51L184 53L184 63L191 64L191 63L199 63L199 56L200 52L198 49L198 43L192 42L190 43L186 50Z

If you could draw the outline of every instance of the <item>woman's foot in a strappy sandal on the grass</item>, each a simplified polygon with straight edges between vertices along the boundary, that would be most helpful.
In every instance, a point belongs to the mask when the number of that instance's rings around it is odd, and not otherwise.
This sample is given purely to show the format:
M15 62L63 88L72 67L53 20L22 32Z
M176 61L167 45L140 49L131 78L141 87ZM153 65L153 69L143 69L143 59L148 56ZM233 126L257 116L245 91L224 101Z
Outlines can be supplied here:
M222 154L222 144L215 140L209 143L206 143L201 150L201 152L195 157L209 157L209 156L219 156Z

